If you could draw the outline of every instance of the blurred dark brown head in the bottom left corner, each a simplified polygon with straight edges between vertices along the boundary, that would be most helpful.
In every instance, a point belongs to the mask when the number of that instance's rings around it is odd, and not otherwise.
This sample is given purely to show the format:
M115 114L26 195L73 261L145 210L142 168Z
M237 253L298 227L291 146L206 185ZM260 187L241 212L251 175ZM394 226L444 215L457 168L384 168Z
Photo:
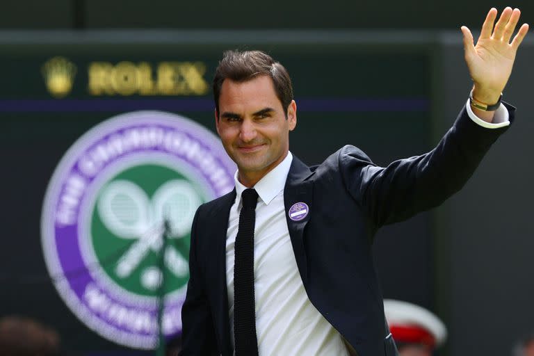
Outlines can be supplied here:
M0 319L0 355L57 356L60 338L57 332L31 318L6 316Z

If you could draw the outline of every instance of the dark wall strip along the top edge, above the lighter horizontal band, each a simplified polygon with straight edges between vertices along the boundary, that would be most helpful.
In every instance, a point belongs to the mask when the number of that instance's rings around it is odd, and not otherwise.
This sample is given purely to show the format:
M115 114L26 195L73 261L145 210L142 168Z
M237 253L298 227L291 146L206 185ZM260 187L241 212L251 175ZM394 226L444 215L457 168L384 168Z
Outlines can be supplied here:
M3 1L3 29L459 29L478 27L489 7L532 1Z

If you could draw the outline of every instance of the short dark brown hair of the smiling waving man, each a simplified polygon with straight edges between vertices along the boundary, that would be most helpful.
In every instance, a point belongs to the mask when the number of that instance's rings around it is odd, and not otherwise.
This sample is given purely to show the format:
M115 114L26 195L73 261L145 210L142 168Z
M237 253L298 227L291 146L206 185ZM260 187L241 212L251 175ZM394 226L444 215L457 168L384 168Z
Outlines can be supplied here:
M213 99L219 115L220 88L223 81L250 81L256 76L268 75L273 79L275 92L287 116L287 107L293 100L293 86L286 68L262 51L225 51L213 77Z

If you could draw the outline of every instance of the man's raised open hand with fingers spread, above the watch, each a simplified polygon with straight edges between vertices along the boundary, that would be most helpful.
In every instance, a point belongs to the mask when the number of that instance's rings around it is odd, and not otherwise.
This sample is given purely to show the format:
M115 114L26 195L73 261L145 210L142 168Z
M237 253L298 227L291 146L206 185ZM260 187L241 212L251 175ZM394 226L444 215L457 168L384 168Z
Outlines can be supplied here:
M474 81L473 96L479 102L497 102L510 78L517 48L528 32L528 24L523 24L510 42L519 15L521 11L518 8L505 8L494 24L497 10L489 10L476 45L471 31L462 26L465 61Z

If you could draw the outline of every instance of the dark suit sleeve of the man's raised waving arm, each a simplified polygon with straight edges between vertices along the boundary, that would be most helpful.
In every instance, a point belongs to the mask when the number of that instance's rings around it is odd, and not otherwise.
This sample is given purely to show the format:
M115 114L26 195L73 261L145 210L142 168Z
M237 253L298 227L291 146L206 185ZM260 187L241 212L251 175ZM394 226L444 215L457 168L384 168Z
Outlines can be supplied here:
M505 106L512 122L515 108ZM346 146L339 154L339 169L348 191L378 228L436 207L459 191L507 129L481 127L463 108L437 147L426 154L382 168L359 149Z

